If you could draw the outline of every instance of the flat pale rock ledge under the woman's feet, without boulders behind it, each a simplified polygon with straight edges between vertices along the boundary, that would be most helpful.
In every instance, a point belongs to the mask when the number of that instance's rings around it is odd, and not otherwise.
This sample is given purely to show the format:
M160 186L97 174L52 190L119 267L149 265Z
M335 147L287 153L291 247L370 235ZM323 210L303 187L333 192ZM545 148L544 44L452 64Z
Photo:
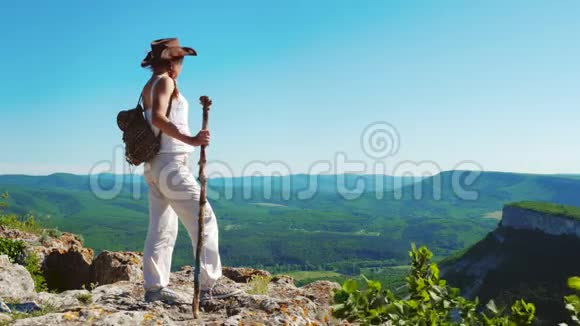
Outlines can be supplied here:
M262 275L265 271L228 268L232 273ZM53 311L15 320L13 325L322 325L331 321L330 298L337 283L318 281L296 287L291 278L268 284L263 294L248 294L252 287L235 283L242 294L202 303L201 319L194 320L192 268L171 274L170 286L181 297L175 304L147 303L142 281L119 281L93 290L41 292L35 301Z

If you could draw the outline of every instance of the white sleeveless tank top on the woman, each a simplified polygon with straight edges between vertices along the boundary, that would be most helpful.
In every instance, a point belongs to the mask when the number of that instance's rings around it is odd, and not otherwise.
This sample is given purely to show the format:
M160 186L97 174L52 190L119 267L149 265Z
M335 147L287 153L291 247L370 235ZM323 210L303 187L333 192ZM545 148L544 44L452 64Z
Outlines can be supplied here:
M157 82L161 79L161 77L157 77L157 79L153 82L151 86L151 96L150 101L153 103L153 90L157 85ZM177 85L176 85L177 87ZM145 106L145 104L143 104ZM151 121L153 121L151 116L151 108L144 108L145 111L145 119L151 126L151 129L155 133L155 135L159 135L159 128L155 127ZM171 121L177 129L183 134L191 136L191 132L189 131L189 103L185 99L181 93L177 98L174 98L171 102L171 112L169 112L169 121ZM165 133L161 134L161 148L159 149L159 153L190 153L193 152L193 146L188 145L178 139L175 139L171 136L166 135Z

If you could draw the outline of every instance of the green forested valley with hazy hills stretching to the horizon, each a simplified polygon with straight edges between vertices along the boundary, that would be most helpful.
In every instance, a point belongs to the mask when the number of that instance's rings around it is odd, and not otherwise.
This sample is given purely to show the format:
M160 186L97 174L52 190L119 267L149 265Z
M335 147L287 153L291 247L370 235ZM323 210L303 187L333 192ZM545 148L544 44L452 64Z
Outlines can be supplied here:
M380 199L376 192L368 191L353 200L333 190L336 176L320 177L320 190L308 199L297 198L304 188L296 186L285 199L281 187L283 178L306 187L310 177L305 175L254 177L251 199L243 196L243 179L212 179L210 202L218 215L224 264L274 272L318 270L358 275L364 268L405 264L411 242L429 246L439 258L466 248L495 227L497 220L486 216L508 202L530 199L580 204L571 195L580 191L580 180L575 178L495 172L485 172L464 186L478 198L463 200L453 190L452 179L462 182L468 176L467 171L450 171L420 181L390 179L391 185L403 187L386 186ZM116 177L101 176L101 183L111 185ZM346 179L354 182L356 176ZM99 199L90 191L88 176L69 174L0 176L0 190L10 193L9 211L32 213L47 226L80 233L97 251L139 251L148 223L146 187L139 178L121 176L121 180L123 191L110 200ZM266 182L271 182L269 198L264 198ZM438 183L440 191L434 186ZM135 185L141 189L138 199L130 191ZM224 198L227 191L233 194L229 199ZM437 191L440 199L434 198ZM192 261L192 245L181 227L174 268Z

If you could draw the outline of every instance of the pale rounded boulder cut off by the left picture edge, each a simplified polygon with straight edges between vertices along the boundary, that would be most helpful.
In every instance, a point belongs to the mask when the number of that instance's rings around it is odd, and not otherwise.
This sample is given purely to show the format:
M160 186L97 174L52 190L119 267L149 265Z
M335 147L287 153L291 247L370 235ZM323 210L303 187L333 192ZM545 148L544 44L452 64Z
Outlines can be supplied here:
M6 255L0 256L0 298L25 301L35 297L34 280L22 265L13 264Z

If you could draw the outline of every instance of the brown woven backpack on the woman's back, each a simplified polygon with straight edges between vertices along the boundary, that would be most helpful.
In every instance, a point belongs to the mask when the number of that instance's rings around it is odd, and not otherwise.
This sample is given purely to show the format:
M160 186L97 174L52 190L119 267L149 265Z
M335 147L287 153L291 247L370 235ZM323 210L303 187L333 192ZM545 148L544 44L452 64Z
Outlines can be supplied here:
M141 163L151 160L161 148L161 130L159 135L149 126L145 118L145 110L141 106L143 94L137 101L134 109L124 110L117 114L117 125L123 132L123 143L125 143L125 159L131 165L140 165ZM167 108L166 117L171 112L171 102Z

